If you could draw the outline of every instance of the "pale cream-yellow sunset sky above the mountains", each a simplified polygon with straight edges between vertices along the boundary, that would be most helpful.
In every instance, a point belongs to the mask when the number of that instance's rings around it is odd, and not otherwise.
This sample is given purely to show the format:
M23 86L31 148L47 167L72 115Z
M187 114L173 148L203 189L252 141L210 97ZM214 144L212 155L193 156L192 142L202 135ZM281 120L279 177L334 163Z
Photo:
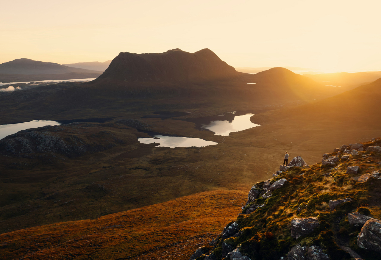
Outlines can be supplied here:
M234 67L381 70L381 1L3 1L0 63L214 51Z

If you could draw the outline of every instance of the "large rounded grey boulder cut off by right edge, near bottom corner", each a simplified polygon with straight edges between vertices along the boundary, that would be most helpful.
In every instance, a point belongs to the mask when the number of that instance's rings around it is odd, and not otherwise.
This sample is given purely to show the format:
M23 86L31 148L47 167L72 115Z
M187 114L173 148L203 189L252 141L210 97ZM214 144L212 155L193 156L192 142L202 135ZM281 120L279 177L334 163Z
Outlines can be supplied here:
M357 238L357 246L381 253L381 220L365 222Z

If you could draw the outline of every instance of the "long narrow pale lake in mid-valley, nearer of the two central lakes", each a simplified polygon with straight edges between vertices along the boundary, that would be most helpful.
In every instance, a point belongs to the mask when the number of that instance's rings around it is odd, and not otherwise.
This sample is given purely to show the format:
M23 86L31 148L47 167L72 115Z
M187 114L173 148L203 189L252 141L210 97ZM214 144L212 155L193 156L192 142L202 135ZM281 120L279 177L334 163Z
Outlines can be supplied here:
M200 138L191 137L178 137L178 136L162 136L161 134L155 135L158 139L139 137L138 141L142 144L160 144L158 147L204 147L208 145L218 144L216 142L203 140Z

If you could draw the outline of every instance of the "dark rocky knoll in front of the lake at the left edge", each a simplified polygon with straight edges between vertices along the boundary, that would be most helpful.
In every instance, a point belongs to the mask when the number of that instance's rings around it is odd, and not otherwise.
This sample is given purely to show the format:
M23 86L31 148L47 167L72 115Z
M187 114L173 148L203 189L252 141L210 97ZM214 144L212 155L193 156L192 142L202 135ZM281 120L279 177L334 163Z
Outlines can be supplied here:
M116 132L118 129L126 127L118 123L75 122L68 125L26 129L0 140L0 154L25 158L56 157L56 155L74 158L86 152L99 152L137 142L136 136L128 132L123 134Z

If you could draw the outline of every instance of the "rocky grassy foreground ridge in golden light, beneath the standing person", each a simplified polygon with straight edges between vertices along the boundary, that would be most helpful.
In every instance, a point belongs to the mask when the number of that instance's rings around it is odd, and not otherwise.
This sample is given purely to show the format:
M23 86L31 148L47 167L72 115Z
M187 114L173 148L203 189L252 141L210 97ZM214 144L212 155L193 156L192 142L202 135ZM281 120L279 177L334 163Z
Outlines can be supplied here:
M235 222L190 260L380 259L381 139L342 145L251 188Z

